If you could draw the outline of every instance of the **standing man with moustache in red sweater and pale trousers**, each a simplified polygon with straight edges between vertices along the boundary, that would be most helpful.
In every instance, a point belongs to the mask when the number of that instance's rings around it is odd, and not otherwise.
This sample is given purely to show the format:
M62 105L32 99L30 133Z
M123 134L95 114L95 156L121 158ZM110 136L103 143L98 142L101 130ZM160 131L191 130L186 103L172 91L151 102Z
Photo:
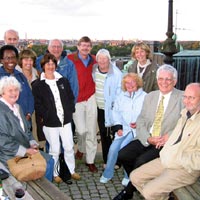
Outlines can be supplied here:
M78 41L78 51L68 55L74 63L79 83L79 95L73 120L78 134L77 159L86 153L86 166L91 172L97 172L94 159L97 151L97 105L95 99L95 83L92 78L95 56L90 54L92 42L84 36Z

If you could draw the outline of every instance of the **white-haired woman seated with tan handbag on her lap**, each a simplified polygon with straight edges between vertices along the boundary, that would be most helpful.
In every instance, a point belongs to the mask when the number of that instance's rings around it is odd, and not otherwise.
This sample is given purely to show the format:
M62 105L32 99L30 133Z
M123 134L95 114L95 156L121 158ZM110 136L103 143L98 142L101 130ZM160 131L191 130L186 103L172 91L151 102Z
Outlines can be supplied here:
M0 79L0 162L7 166L7 160L38 152L38 143L30 131L21 107L16 103L21 84L13 76ZM43 153L44 155L44 153ZM52 181L54 160L48 154L46 178Z

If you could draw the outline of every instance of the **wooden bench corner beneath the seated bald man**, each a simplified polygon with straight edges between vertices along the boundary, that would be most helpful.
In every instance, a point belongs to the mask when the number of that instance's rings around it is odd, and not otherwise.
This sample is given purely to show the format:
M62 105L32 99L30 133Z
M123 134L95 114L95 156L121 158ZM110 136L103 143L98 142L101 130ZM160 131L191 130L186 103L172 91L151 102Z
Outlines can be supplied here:
M200 179L186 187L173 191L177 200L200 200Z

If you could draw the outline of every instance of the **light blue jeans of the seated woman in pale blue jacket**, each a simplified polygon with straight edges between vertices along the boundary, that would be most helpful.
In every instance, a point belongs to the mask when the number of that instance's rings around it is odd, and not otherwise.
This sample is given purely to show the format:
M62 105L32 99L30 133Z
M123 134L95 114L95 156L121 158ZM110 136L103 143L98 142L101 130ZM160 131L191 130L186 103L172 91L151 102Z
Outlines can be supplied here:
M106 168L103 172L105 178L112 178L114 175L114 168L117 162L118 152L121 148L126 146L129 142L133 140L134 136L132 132L129 132L127 135L115 139L109 149L108 158L106 163Z

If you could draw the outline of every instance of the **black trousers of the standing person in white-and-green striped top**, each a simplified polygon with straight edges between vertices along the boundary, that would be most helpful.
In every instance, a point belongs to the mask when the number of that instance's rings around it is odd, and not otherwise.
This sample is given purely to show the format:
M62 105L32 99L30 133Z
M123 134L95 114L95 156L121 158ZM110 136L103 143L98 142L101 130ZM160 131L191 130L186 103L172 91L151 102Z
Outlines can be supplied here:
M104 110L99 109L99 108L98 108L97 121L98 121L100 136L101 136L103 161L106 164L108 151L112 143L112 139L111 139L112 133L111 133L110 127L105 127Z

